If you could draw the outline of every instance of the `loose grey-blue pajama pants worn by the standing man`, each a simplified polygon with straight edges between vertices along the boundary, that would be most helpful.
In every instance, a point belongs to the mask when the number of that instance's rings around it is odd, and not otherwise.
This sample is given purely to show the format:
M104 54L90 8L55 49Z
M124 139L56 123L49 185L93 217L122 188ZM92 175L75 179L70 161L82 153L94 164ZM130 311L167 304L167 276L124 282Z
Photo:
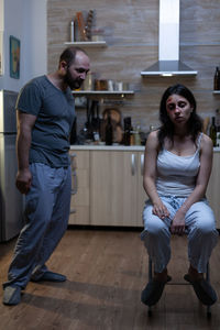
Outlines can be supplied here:
M30 165L32 186L25 196L25 226L22 229L3 287L25 288L32 277L38 279L45 263L64 235L69 218L72 170L41 163Z

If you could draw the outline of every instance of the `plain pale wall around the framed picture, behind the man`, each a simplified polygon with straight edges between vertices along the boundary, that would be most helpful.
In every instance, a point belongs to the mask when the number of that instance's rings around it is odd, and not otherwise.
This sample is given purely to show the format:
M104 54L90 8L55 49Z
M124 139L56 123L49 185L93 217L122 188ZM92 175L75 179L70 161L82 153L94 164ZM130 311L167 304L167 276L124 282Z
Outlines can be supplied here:
M4 74L0 89L19 91L28 80L46 73L46 9L47 0L4 0ZM10 35L21 41L20 79L10 77Z

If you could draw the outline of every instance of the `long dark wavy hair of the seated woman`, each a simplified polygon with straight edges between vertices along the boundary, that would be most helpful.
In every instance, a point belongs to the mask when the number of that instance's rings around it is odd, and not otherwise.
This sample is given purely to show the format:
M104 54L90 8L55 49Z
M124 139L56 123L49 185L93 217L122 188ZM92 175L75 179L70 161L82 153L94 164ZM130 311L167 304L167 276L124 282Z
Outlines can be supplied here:
M202 130L202 120L196 113L196 100L193 92L186 86L180 84L170 86L165 90L160 106L160 120L162 122L162 127L160 128L158 131L158 141L161 147L163 147L164 145L165 138L168 138L172 142L174 141L174 124L170 121L166 110L166 101L169 98L169 96L174 94L179 95L185 99L187 99L187 101L190 103L193 108L191 116L188 120L188 131L191 134L191 139L195 144L196 144L198 133L201 132Z

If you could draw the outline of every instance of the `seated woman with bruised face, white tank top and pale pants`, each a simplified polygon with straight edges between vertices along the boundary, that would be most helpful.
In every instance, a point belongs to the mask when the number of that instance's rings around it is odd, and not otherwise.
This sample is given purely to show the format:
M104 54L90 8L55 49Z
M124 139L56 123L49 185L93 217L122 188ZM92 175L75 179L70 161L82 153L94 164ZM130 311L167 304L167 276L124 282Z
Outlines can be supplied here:
M206 189L212 166L212 141L201 133L196 100L183 85L167 88L160 107L162 127L150 133L145 146L144 189L150 199L143 210L141 234L154 264L153 279L141 300L155 305L170 280L170 234L188 235L189 268L184 278L193 284L198 299L212 305L217 295L204 278L218 242L218 231Z

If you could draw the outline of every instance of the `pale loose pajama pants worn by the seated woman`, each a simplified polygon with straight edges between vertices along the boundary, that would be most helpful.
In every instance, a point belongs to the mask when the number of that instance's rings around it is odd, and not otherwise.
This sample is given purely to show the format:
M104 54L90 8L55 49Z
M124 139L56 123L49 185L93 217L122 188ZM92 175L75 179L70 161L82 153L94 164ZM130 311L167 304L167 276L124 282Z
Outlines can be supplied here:
M152 204L146 201L143 210L144 241L150 257L154 263L154 271L162 273L170 260L170 222L176 211L186 198L161 197L169 211L169 218L164 220L152 213ZM215 215L206 199L195 202L186 213L188 237L188 260L199 273L205 273L213 248L218 242Z

